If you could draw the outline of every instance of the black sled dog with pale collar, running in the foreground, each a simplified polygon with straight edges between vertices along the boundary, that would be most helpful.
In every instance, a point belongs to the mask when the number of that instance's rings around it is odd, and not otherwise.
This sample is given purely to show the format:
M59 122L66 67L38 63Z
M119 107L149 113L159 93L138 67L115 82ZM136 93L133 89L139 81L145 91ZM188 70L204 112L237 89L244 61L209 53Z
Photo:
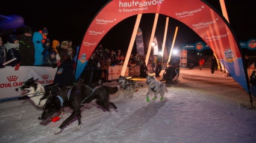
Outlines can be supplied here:
M90 103L96 100L96 104L107 109L110 105L114 109L117 109L113 102L110 102L110 94L114 94L118 91L118 87L93 87L92 85L76 84L72 88L63 88L57 96L51 96L43 106L43 113L40 117L41 120L51 120L54 115L64 107L70 107L73 112L72 114L61 123L58 129L55 129L54 133L60 133L64 127L69 124L75 117L78 120L78 127L81 127L81 107L85 103Z

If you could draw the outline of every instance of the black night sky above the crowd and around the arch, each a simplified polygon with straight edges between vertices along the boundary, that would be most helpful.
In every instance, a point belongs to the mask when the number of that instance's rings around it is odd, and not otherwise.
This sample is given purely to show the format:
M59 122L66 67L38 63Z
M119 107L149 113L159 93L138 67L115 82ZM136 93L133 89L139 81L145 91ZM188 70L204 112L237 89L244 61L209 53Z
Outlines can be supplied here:
M48 28L48 37L53 40L72 40L73 44L80 45L91 20L99 10L107 3L107 0L93 1L5 1L1 5L2 15L17 14L25 20L24 24L29 25L34 31L43 27ZM207 0L219 13L221 12L219 0ZM57 3L57 4L56 4ZM255 0L225 1L229 23L239 41L247 41L256 38L255 27ZM140 28L143 31L145 47L148 47L152 25L155 14L143 14ZM158 45L161 47L163 41L166 16L159 15L155 36L158 38ZM113 27L101 40L102 46L108 49L127 49L130 43L133 26L136 16L129 17ZM202 41L201 38L189 27L178 20L169 17L166 45L171 46L175 27L178 26L178 33L175 41L176 47L182 44L193 44Z

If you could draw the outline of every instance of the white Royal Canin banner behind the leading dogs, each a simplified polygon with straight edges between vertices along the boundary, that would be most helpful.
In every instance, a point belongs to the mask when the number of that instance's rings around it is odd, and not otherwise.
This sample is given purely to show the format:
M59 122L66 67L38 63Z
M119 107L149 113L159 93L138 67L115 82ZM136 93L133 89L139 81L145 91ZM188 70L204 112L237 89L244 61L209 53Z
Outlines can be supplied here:
M37 82L42 85L52 84L57 71L57 68L52 67L20 66L19 70L14 68L6 66L0 69L0 99L19 96L20 92L15 91L15 88L30 78L38 79Z

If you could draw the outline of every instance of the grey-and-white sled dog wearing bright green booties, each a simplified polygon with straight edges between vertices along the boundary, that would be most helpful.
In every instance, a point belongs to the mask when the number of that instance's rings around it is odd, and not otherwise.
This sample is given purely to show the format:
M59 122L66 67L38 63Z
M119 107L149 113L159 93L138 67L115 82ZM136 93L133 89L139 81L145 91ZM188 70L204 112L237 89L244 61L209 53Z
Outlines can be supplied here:
M149 102L149 96L154 93L154 98L157 99L157 94L160 94L160 100L163 100L164 93L167 93L168 90L166 85L163 82L157 81L154 76L146 76L146 84L148 84L148 93L146 94L146 100Z

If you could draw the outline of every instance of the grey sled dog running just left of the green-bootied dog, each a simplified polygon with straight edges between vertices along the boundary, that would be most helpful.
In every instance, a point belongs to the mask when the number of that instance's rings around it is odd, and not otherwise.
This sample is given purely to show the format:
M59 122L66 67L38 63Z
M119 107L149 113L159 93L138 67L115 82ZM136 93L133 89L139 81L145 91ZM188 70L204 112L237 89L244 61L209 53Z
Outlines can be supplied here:
M127 79L125 76L119 76L118 84L122 88L123 92L125 93L124 96L129 96L130 99L133 99L133 94L136 87L136 82L132 79Z

